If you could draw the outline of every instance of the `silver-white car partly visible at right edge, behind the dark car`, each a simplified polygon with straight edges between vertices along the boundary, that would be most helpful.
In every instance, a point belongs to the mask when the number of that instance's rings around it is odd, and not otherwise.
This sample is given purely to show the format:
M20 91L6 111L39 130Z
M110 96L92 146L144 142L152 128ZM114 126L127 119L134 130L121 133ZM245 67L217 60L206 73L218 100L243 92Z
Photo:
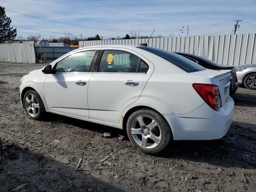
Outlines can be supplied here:
M256 90L256 64L240 65L235 68L238 83Z

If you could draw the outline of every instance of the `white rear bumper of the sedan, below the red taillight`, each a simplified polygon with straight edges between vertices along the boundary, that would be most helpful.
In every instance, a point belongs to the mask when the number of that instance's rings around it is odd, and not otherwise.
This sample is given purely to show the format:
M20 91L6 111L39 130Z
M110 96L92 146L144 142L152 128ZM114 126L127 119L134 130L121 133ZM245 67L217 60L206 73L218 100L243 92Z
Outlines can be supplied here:
M229 130L234 115L234 100L226 108L214 111L204 103L188 114L165 114L174 140L214 140Z

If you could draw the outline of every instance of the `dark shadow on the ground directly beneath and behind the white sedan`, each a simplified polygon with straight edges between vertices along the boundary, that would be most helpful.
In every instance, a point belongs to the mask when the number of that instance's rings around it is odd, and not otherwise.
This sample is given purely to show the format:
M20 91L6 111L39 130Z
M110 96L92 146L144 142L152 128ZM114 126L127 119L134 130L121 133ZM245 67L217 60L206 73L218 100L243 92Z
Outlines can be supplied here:
M44 121L56 121L69 125L72 124L73 126L97 132L99 134L103 134L104 132L112 132L112 136L110 138L117 137L118 134L121 134L125 136L124 140L129 141L124 130L109 126L68 118L57 114L50 114L50 116L48 116L48 118L46 118ZM246 126L252 127L255 125L247 124ZM215 166L256 169L256 159L247 159L245 158L246 156L244 156L248 155L248 153L246 153L246 150L243 149L243 143L248 143L248 137L250 137L240 133L240 130L245 128L244 123L241 123L240 126L239 122L234 122L228 133L221 139L202 141L171 141L162 152L158 154L148 154L148 156L166 159L182 159L191 162L204 162ZM251 140L251 142L253 146L254 140ZM136 152L142 153L138 149L136 149ZM251 156L250 153L249 155Z

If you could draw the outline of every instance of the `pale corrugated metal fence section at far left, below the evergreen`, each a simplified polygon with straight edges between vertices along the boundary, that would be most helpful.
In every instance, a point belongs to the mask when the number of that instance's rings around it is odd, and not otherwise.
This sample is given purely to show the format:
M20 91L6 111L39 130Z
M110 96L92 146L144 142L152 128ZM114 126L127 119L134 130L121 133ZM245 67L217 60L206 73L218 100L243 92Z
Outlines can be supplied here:
M34 43L0 44L0 62L36 63Z

